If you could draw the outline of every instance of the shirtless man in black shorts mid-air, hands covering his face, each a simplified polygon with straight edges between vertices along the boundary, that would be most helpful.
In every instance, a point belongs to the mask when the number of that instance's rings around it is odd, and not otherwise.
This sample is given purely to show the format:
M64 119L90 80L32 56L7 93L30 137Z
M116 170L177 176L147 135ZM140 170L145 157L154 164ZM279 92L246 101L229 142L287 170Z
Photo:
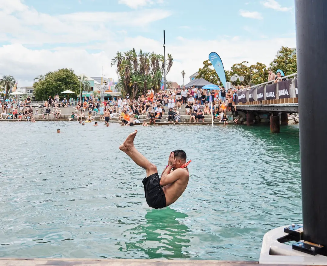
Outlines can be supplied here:
M138 166L146 169L143 179L146 203L154 209L161 209L173 204L183 194L189 179L186 153L176 150L170 153L168 165L159 178L157 167L150 163L134 146L137 130L129 134L119 150L124 151Z

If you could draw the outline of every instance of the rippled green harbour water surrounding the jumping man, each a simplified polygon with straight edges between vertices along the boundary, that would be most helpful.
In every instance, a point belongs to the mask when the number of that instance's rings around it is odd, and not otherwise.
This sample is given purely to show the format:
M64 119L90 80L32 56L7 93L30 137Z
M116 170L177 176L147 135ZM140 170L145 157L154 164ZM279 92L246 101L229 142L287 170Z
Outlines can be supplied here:
M297 126L0 126L0 257L258 260L268 230L302 219ZM147 206L118 150L135 129L160 173L172 150L192 160L170 207Z

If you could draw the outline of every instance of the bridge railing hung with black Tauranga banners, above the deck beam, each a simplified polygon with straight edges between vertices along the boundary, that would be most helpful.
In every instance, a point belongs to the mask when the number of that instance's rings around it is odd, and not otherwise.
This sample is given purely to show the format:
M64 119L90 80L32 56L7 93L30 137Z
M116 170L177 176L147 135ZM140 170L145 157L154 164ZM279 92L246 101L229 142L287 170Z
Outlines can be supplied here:
M282 77L280 80L283 81L274 83L274 80L270 80L239 90L237 104L288 103L289 100L284 99L289 98L296 98L297 102L297 73Z

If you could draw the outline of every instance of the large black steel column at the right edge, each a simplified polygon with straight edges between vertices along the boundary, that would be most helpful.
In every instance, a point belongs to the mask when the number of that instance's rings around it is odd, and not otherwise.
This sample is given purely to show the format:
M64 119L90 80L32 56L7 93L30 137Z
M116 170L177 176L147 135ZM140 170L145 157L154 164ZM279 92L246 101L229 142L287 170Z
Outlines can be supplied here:
M295 0L295 19L303 233L327 246L327 0Z

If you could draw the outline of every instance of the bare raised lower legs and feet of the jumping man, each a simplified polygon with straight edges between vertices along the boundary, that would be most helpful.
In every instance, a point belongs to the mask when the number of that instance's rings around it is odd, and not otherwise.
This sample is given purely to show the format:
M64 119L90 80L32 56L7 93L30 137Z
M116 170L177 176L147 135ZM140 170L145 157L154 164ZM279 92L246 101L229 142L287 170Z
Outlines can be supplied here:
M124 151L138 166L146 169L146 177L158 172L157 167L150 163L134 146L134 138L137 130L129 134L124 143L119 146L119 150Z

